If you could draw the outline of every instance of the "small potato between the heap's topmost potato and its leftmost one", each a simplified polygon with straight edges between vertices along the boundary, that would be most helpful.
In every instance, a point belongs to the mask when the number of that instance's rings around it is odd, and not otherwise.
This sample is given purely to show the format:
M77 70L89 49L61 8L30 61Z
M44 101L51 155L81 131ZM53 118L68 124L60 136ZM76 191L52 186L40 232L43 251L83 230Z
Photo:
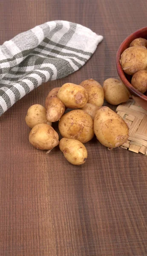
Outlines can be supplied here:
M58 121L65 112L65 105L58 97L48 99L46 118L50 122ZM52 121L51 121L52 120Z

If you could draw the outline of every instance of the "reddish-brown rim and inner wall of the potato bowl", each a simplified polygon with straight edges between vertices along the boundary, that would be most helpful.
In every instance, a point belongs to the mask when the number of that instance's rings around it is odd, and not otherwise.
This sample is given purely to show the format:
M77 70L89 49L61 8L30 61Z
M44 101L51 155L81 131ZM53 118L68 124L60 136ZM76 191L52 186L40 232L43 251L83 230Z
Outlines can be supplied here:
M126 39L124 39L124 41L121 43L121 45L118 48L117 54L116 54L116 68L117 68L117 72L118 72L118 76L120 77L121 81L123 82L123 84L127 87L128 90L130 90L130 92L134 95L137 96L141 99L143 99L144 101L147 102L147 96L144 95L143 93L139 92L138 90L136 90L132 84L130 84L130 82L127 80L124 71L122 70L121 64L120 64L120 58L121 58L121 54L122 52L124 52L125 49L127 49L130 45L130 43L135 39L135 38L140 38L141 34L144 34L144 32L146 32L147 35L147 26L141 29L136 30L135 32L133 32L132 34L130 34ZM147 37L147 36L146 36ZM142 38L144 38L144 36L142 36ZM146 38L147 39L147 38ZM126 74L127 75L127 74Z

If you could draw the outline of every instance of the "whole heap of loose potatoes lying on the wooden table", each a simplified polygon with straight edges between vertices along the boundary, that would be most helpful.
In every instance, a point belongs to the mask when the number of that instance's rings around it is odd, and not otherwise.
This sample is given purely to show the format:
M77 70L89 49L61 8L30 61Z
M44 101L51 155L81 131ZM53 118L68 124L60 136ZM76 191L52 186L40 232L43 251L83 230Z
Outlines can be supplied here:
M45 108L32 105L26 115L26 124L32 128L29 142L38 149L51 150L59 145L64 157L74 165L87 159L83 143L96 135L101 144L116 148L125 143L129 130L124 120L108 107L102 107L105 99L113 105L126 102L130 93L117 79L107 79L103 87L88 79L80 85L66 83L51 90L46 97ZM67 108L73 109L64 113ZM62 135L52 128L58 122Z

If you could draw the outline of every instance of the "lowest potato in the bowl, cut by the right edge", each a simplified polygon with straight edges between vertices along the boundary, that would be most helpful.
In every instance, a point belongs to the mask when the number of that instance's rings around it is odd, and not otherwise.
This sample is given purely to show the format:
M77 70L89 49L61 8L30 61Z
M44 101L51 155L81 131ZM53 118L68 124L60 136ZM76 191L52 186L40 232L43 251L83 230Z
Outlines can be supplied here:
M147 90L147 70L136 72L132 77L131 84L141 93L145 93Z

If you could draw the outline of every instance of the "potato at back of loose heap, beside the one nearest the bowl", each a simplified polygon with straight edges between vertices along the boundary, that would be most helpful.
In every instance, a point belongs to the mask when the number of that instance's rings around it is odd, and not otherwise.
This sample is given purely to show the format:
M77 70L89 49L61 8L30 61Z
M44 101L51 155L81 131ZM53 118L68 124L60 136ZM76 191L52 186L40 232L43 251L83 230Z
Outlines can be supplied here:
M104 103L104 90L101 84L93 79L84 80L80 84L88 93L88 103L101 107Z

